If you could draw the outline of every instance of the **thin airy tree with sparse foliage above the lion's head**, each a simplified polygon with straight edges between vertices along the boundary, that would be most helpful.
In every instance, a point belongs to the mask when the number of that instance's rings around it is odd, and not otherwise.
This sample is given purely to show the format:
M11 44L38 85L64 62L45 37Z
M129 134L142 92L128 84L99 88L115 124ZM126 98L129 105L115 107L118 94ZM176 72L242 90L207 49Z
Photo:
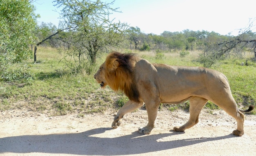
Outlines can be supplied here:
M55 6L62 8L62 29L69 29L65 42L70 43L71 50L67 56L78 61L81 67L86 58L93 65L97 54L106 51L108 46L116 46L124 40L128 26L113 22L109 15L118 8L112 8L115 1L106 3L100 0L55 0ZM65 33L65 32L64 32Z

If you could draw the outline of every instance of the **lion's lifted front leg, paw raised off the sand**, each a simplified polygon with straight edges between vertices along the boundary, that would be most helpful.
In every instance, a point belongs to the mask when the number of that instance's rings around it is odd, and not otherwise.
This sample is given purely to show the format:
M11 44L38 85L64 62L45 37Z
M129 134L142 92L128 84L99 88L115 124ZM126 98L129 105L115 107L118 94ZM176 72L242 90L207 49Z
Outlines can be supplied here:
M131 100L127 101L126 104L123 105L123 107L120 108L120 110L117 112L117 115L114 118L114 121L112 123L112 128L116 129L119 125L121 125L121 119L123 116L128 113L136 110L137 108L144 105L144 103L136 103Z

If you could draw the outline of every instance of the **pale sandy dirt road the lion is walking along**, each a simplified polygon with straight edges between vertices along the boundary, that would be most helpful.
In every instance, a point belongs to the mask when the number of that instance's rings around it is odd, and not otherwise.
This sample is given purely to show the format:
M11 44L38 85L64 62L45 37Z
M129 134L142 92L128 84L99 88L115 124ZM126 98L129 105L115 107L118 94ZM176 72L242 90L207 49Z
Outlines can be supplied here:
M245 134L231 134L236 122L224 111L203 110L198 125L173 132L189 119L182 110L158 113L157 125L149 135L138 127L147 123L146 110L124 116L117 129L111 128L113 113L47 116L22 110L0 112L0 156L72 155L198 155L253 156L256 154L256 116L246 115Z

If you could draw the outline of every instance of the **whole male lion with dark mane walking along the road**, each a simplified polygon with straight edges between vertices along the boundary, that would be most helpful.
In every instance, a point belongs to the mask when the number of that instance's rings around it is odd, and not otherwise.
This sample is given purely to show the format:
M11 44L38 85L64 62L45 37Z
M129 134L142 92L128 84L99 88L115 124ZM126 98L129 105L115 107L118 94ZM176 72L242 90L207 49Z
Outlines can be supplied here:
M178 104L190 100L189 121L176 132L183 132L198 123L198 116L207 101L212 101L237 121L236 136L244 134L245 115L254 109L239 110L232 97L227 77L222 73L202 67L168 66L151 64L136 54L110 53L94 78L101 88L107 85L114 91L123 91L129 101L120 108L112 123L117 128L124 114L146 105L148 125L139 133L150 134L160 103Z

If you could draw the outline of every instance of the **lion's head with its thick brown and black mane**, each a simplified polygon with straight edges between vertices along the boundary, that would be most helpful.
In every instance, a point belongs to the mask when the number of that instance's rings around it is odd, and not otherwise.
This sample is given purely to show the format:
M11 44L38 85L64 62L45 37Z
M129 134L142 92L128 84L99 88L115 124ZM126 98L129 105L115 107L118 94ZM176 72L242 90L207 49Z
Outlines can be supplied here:
M137 58L136 54L112 52L106 57L106 61L100 66L94 78L100 83L101 88L108 85L114 91L124 92L130 100L140 102L134 82L135 58Z

